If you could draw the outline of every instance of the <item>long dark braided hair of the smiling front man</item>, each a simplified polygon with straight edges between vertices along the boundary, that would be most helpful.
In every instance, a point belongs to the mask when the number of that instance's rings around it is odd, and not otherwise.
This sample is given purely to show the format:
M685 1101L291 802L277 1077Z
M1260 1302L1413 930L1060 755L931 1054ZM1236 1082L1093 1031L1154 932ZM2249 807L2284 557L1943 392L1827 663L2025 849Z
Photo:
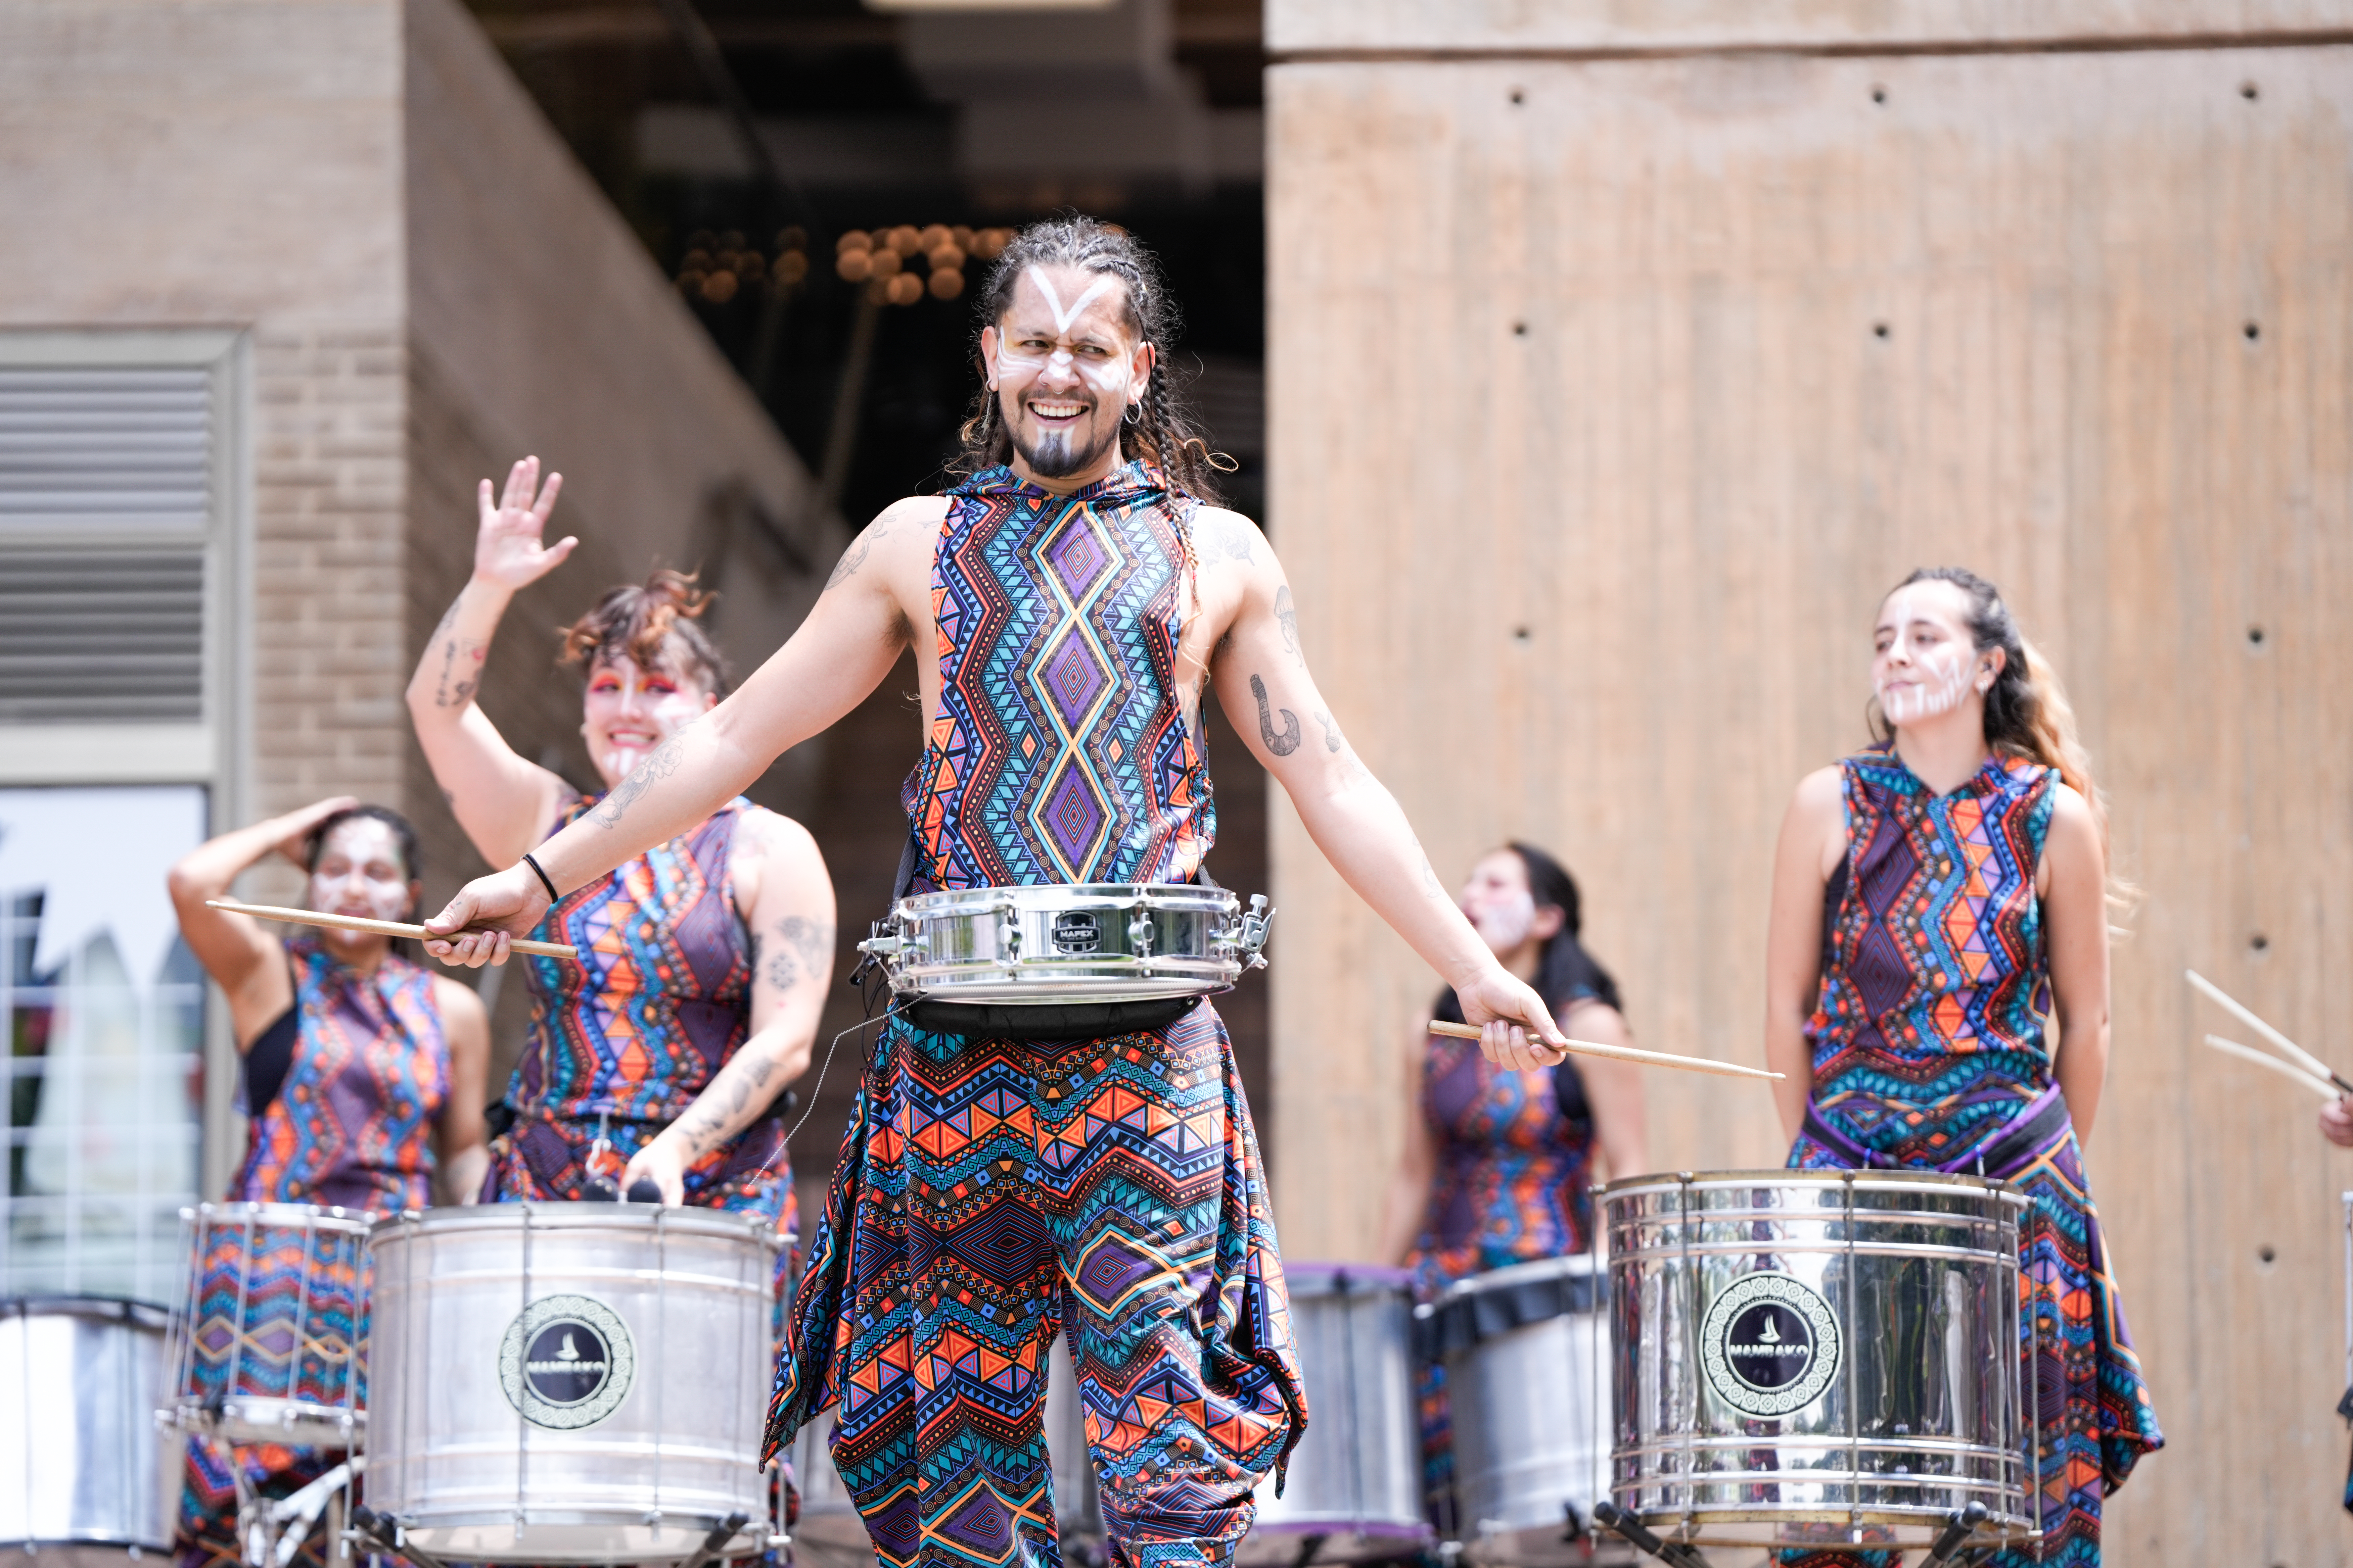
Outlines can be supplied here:
M1162 480L1195 501L1217 505L1219 454L1209 451L1209 440L1193 423L1193 409L1169 378L1167 355L1181 327L1176 301L1169 299L1160 263L1125 228L1096 223L1094 219L1068 216L1031 223L995 266L979 294L979 322L974 324L974 357L979 355L979 329L998 327L1012 308L1014 287L1021 273L1033 266L1071 266L1087 273L1111 273L1127 284L1127 324L1153 346L1153 374L1144 383L1144 404L1134 418L1120 425L1122 456L1144 458L1158 468ZM962 451L948 463L948 473L972 475L998 463L1009 463L1014 454L1005 416L998 411L998 393L984 381L972 400L972 418L965 421ZM1228 461L1231 465L1231 461Z

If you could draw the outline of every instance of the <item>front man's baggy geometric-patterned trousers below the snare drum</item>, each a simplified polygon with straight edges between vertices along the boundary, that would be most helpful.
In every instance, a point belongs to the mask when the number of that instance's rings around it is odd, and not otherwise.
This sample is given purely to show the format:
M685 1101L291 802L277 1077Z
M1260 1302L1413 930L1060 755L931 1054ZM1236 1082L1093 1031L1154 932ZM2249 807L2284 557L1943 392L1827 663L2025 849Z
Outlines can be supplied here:
M1217 1011L1096 1041L885 1025L776 1368L774 1453L833 1460L887 1568L1056 1568L1040 1401L1068 1333L1122 1568L1233 1559L1306 1427Z

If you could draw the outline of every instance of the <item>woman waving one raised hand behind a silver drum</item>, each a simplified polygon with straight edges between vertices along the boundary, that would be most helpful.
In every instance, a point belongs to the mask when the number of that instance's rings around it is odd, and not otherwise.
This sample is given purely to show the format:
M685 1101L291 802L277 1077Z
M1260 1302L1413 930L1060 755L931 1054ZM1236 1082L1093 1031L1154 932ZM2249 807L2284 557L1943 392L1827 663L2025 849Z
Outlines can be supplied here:
M539 458L515 463L499 501L482 480L473 578L409 679L433 778L492 865L605 802L518 757L473 701L508 599L576 543L541 545L560 489L562 475L539 484ZM725 693L725 661L696 623L706 604L692 578L656 571L565 632L607 792ZM664 1204L765 1213L791 1241L781 1103L833 976L833 882L809 832L736 797L572 891L539 936L581 959L529 961L532 1032L482 1199L614 1197L652 1180Z

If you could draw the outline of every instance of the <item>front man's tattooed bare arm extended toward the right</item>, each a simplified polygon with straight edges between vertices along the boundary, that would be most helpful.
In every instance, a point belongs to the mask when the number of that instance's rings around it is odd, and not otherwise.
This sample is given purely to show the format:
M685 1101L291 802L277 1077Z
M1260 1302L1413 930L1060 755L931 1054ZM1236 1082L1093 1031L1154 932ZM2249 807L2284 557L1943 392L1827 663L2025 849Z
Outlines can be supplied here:
M1242 517L1212 527L1249 529L1249 574L1209 677L1242 743L1292 797L1308 837L1358 898L1402 936L1461 997L1464 1018L1487 1025L1482 1051L1508 1067L1548 1067L1567 1039L1544 999L1511 971L1447 896L1421 853L1398 799L1372 776L1315 691L1299 646L1299 611L1282 564Z

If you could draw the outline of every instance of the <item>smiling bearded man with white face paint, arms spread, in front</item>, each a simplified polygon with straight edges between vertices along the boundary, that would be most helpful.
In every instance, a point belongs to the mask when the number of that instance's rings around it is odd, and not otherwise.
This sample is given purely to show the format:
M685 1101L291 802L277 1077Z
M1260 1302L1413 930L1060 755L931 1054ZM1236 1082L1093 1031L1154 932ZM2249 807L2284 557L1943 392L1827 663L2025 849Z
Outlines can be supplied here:
M915 649L911 886L1193 882L1217 837L1207 691L1341 877L1513 1067L1560 1041L1438 884L1315 691L1266 536L1212 503L1160 364L1174 308L1122 230L1024 230L979 294L962 482L887 508L744 689L548 839L565 893L696 820ZM433 929L506 957L532 867ZM1141 1126L1160 1128L1144 1133ZM1174 1133L1169 1128L1184 1128ZM889 1018L802 1276L774 1450L840 1403L833 1458L889 1568L1056 1561L1038 1401L1068 1333L1113 1559L1231 1561L1306 1425L1249 1107L1217 1009L1106 1039Z

